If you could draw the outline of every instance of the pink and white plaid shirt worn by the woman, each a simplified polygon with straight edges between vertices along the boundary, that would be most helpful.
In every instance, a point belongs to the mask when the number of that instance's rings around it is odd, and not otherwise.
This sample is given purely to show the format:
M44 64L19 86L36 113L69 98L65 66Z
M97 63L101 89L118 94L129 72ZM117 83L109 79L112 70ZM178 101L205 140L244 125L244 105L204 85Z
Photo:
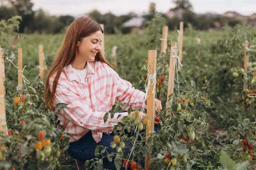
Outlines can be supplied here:
M121 122L110 114L106 123L103 116L111 110L115 101L127 103L124 110L131 106L141 108L145 93L132 87L131 83L121 79L111 67L103 62L87 62L85 83L74 73L71 65L67 65L58 80L55 92L54 105L67 103L67 107L60 109L57 114L64 127L65 133L70 136L70 142L78 141L90 130L93 139L98 143L102 133L110 134L113 122ZM52 83L51 83L52 87ZM145 106L146 108L146 106ZM117 113L116 113L117 114ZM115 114L115 115L116 115Z

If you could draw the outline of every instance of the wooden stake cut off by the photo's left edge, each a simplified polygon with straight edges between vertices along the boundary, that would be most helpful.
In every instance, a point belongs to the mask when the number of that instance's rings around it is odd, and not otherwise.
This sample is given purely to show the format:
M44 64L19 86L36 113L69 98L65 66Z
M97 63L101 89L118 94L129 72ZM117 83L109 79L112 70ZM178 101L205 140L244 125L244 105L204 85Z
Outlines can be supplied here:
M0 47L0 131L3 132L3 135L7 135L6 130L6 111L5 111L5 86L4 86L4 78L5 78L5 71L4 71L4 60L3 60L3 51ZM0 150L3 150L5 147L0 146Z

